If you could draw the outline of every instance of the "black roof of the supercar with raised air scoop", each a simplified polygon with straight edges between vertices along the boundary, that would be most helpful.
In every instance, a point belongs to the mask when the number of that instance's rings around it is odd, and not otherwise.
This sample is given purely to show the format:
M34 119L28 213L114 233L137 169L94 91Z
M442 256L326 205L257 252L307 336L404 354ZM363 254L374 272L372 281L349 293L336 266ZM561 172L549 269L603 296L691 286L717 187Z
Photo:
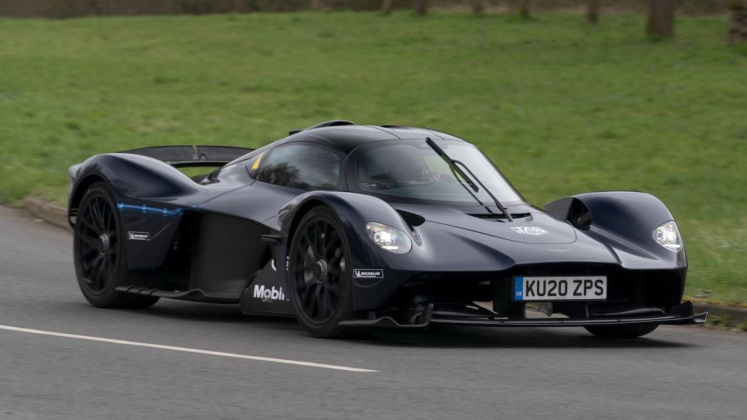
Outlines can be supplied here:
M310 141L330 146L347 154L362 144L381 140L433 138L465 141L447 132L433 129L410 126L359 126L340 120L327 121L311 126L309 129L291 133L293 134L278 140L275 144Z

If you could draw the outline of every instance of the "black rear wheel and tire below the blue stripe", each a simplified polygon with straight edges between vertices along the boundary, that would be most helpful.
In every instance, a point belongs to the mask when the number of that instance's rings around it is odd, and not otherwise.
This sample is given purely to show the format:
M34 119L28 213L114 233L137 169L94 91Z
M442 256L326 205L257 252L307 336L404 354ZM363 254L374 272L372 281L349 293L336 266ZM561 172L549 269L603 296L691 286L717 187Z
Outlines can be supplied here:
M114 195L104 182L96 182L78 206L73 232L75 275L83 296L93 306L141 309L158 301L158 297L114 290L137 284L127 268L124 238Z

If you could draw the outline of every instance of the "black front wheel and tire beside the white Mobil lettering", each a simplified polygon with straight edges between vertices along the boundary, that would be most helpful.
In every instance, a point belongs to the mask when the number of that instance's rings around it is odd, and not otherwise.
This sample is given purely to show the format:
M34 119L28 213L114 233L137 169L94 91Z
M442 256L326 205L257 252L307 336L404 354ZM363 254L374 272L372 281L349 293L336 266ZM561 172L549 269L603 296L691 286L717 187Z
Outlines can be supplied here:
M341 223L325 206L311 209L300 220L288 253L288 283L298 323L311 336L362 338L365 327L341 327L353 316L353 277Z

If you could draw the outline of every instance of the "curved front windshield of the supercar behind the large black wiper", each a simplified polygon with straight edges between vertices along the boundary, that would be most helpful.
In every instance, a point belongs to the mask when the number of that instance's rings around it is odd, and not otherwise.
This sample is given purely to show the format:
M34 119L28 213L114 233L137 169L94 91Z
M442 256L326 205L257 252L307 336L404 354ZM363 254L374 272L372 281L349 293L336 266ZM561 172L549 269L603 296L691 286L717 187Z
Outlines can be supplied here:
M502 203L523 201L475 146L454 140L438 140L437 143L450 158L465 164ZM350 163L355 168L356 182L349 186L362 192L408 201L465 204L480 201L493 205L484 188L478 187L478 191L471 188L471 183L479 183L463 179L425 140L376 143Z

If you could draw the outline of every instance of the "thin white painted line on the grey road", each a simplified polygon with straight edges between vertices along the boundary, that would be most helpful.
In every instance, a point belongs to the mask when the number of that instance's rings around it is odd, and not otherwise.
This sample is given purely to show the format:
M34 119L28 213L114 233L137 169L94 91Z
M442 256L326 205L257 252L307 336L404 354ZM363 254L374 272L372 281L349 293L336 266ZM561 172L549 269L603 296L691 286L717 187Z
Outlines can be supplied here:
M261 362L285 363L286 365L311 366L312 368L335 369L338 371L378 372L378 371L372 371L371 369L350 368L348 366L325 365L323 363L314 363L314 362L300 362L298 360L276 359L274 357L249 356L248 354L223 353L222 351L199 350L196 348L175 347L172 345L154 345L150 343L128 342L125 340L104 339L102 337L78 336L77 334L55 333L54 331L43 331L43 330L31 330L31 328L10 327L8 325L0 325L0 330L18 331L19 333L40 334L42 336L65 337L66 339L89 340L91 342L114 343L117 345L134 345L134 346L146 347L146 348L160 348L161 350L184 351L186 353L209 354L211 356L235 357L236 359L259 360Z

